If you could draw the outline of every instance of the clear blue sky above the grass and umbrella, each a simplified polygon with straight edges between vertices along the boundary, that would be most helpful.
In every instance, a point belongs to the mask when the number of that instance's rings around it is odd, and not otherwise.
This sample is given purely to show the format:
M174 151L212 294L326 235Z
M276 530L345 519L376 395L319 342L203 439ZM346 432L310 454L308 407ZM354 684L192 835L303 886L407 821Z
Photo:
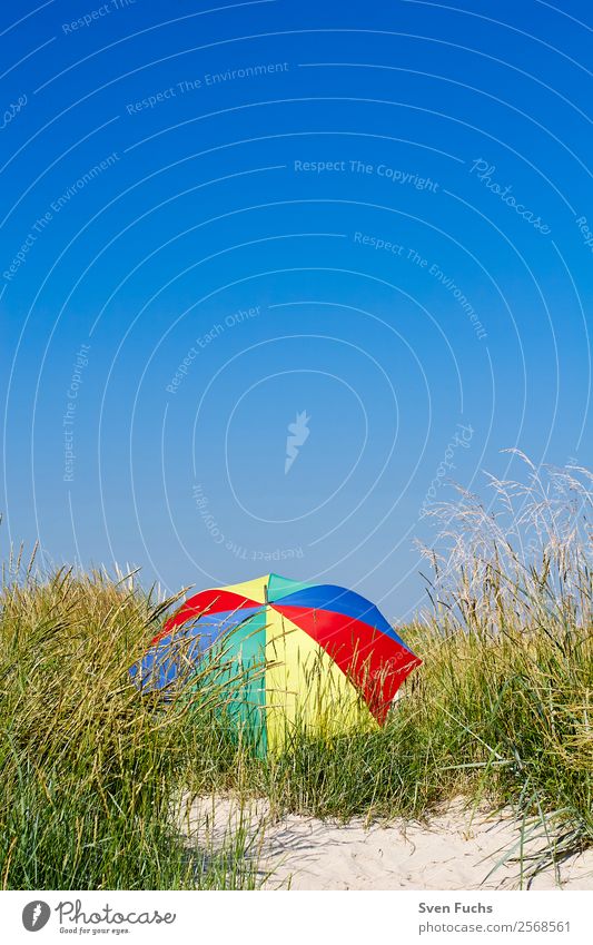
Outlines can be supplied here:
M3 549L404 619L446 480L590 463L590 12L4 4Z

